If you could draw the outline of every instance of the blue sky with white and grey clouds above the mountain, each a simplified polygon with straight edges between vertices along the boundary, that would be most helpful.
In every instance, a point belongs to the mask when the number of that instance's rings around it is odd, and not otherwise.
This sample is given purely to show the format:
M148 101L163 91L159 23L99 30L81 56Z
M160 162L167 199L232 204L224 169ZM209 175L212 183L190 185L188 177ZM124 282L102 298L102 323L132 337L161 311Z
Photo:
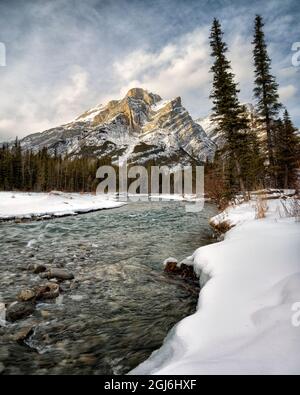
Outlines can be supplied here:
M181 96L194 117L207 115L213 17L225 30L240 98L251 102L256 13L265 18L281 100L300 127L300 66L292 64L299 0L1 0L0 141L68 122L137 86ZM1 45L0 63L3 56Z

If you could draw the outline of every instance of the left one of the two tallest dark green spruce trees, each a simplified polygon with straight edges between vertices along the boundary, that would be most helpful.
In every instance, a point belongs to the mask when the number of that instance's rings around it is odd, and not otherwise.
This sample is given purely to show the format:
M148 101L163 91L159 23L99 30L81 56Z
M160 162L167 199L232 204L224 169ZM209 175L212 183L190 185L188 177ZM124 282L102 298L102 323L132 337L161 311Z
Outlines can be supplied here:
M210 35L211 56L214 58L211 68L213 87L210 95L213 100L212 116L217 121L218 130L225 140L222 156L223 160L226 160L227 188L234 193L234 183L237 178L239 188L244 193L245 179L242 161L249 142L248 121L245 108L238 99L238 85L234 81L231 63L226 57L228 47L223 41L223 35L220 22L214 19Z

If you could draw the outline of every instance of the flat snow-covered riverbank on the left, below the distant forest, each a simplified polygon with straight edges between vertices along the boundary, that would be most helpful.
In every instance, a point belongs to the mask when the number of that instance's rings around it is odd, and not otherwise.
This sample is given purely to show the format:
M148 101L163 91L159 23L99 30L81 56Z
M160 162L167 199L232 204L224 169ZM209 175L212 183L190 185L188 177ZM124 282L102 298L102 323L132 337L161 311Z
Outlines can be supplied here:
M122 205L111 197L91 194L0 192L0 221L62 217Z

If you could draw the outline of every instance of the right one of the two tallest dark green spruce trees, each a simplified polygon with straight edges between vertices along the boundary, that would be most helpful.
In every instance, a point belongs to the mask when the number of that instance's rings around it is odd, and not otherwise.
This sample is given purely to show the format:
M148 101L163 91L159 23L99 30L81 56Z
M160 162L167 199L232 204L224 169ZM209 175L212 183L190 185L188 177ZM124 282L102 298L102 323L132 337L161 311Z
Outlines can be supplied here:
M267 135L267 156L270 164L271 177L276 186L275 170L275 129L276 118L281 108L279 103L278 84L275 77L271 74L271 58L268 55L265 34L263 31L264 23L260 15L255 18L254 28L254 66L255 66L255 87L254 96L257 100L257 111L265 125Z

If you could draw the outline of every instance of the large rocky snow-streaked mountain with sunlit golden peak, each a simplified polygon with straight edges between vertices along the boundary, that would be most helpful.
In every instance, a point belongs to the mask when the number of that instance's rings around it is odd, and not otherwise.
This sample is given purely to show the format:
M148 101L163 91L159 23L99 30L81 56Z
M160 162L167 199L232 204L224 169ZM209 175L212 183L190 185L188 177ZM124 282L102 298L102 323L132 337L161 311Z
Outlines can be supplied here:
M47 147L68 157L112 158L160 165L212 160L216 144L182 106L143 89L92 108L74 121L21 140L25 149Z

